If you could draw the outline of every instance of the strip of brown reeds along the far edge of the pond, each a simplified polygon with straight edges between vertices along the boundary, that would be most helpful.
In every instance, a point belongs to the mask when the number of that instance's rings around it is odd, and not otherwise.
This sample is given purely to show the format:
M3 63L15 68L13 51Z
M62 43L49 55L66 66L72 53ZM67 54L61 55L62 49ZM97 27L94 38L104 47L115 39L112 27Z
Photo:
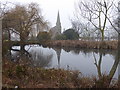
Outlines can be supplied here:
M86 49L117 49L117 41L51 40L45 43L49 47L73 47Z

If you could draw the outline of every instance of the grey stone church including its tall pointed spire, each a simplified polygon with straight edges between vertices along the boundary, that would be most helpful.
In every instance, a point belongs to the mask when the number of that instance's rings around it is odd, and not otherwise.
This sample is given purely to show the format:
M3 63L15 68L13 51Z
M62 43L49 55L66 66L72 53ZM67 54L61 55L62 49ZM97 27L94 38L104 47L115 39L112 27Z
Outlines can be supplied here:
M58 15L57 15L57 22L56 22L56 26L54 26L53 28L50 29L50 34L51 34L51 39L55 39L55 37L57 35L61 34L61 22L60 22L60 15L59 15L59 11L58 11Z

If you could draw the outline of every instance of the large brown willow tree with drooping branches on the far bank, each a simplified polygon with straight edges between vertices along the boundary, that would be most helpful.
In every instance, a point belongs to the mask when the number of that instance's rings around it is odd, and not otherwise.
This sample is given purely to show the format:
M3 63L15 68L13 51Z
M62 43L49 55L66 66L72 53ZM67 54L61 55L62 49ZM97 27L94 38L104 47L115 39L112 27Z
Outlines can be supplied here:
M7 11L3 18L3 29L12 30L20 36L21 49L24 49L24 41L28 40L35 24L47 26L36 3L31 3L27 7L16 5Z

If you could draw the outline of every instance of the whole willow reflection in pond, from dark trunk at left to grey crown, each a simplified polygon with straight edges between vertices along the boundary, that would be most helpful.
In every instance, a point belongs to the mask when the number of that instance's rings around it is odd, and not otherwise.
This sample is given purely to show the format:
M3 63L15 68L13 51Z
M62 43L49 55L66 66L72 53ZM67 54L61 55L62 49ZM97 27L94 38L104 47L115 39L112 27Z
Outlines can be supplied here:
M7 58L15 61L21 62L24 61L26 65L34 67L49 67L53 54L48 53L47 55L43 53L41 49L35 49L31 51L21 51L21 50L11 50Z

